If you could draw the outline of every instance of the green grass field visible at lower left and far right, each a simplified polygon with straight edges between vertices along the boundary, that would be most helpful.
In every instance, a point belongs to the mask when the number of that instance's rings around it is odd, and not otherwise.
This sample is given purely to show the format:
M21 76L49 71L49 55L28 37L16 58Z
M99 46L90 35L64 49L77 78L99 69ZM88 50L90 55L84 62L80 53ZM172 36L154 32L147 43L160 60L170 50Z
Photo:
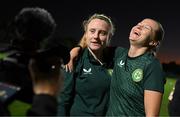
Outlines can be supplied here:
M176 79L167 78L165 84L165 91L163 95L163 101L161 105L160 116L168 116L168 96L175 85ZM31 105L20 102L14 101L10 106L9 110L12 116L25 116L26 110L30 108Z

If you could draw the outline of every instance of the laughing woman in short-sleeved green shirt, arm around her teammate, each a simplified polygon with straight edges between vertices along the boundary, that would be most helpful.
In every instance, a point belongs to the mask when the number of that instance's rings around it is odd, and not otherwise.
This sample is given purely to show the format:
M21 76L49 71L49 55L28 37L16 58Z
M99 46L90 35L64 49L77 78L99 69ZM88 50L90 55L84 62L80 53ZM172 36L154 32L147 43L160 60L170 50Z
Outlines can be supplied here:
M156 50L163 37L162 25L146 18L131 29L130 48L118 47L115 50L107 116L159 115L165 74L156 58ZM79 47L71 50L67 69L73 68L79 51Z

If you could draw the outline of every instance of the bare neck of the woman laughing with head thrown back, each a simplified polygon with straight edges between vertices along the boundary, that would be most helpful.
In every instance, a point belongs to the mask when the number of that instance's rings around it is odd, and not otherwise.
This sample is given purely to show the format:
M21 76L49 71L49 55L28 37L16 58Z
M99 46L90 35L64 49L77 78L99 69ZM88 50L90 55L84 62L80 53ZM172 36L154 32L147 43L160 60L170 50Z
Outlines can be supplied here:
M130 46L130 49L128 51L128 56L129 57L137 57L140 56L144 53L147 52L147 47L135 47L135 46Z

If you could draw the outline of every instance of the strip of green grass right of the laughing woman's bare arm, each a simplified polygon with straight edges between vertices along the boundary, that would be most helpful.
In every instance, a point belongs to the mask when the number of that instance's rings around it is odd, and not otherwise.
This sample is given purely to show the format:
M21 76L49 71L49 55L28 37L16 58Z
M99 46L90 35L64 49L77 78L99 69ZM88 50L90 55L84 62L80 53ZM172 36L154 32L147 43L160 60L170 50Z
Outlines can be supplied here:
M162 105L161 105L161 110L160 110L160 116L169 116L169 114L168 114L168 97L175 85L175 82L176 82L176 79L167 78L167 81L165 84L163 100L162 100Z

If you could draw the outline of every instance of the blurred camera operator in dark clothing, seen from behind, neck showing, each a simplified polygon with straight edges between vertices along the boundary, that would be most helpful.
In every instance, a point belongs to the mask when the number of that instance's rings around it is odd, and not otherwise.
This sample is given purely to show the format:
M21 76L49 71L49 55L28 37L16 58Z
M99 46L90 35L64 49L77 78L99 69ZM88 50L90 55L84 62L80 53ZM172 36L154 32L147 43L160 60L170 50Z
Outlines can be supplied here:
M43 62L48 71L44 72L37 59L30 60L29 70L33 83L33 103L27 111L28 116L55 116L57 115L57 94L61 91L64 77L61 70L60 59L62 57L50 57Z

